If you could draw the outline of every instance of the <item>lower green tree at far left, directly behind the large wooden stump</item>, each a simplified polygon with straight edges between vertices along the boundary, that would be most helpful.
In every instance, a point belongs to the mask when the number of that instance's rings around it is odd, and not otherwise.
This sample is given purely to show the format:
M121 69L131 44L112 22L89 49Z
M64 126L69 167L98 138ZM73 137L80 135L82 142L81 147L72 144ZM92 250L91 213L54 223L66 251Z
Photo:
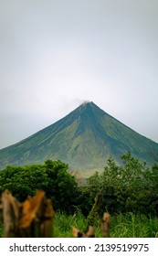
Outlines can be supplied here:
M0 172L0 192L7 189L20 201L46 187L47 175L42 165L8 166Z

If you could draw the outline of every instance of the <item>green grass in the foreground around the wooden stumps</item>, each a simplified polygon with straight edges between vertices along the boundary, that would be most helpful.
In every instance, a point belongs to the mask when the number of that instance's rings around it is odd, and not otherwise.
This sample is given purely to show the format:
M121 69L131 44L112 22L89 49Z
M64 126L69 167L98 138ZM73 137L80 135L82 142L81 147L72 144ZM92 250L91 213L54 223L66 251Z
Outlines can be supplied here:
M74 215L56 213L53 223L53 237L72 238L71 227L82 231L88 227L87 219L77 212ZM95 237L101 238L100 222L94 225ZM0 237L3 237L3 227L0 225ZM112 238L157 238L158 218L133 213L119 214L111 217Z

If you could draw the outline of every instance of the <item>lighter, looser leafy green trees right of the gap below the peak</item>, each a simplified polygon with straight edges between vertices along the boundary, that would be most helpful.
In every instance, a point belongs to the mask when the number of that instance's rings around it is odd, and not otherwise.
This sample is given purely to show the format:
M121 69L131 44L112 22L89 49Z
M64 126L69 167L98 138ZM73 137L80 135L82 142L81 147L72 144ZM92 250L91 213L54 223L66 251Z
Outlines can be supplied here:
M158 215L158 165L150 169L130 153L121 155L121 160L117 165L110 158L102 174L88 180L90 197L98 195L100 214L109 210Z

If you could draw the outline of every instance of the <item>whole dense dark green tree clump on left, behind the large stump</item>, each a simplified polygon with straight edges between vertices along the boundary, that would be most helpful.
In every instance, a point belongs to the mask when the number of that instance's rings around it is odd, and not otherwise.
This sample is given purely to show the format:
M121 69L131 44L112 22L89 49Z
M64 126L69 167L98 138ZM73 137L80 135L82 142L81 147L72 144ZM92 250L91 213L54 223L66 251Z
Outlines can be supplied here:
M55 210L70 213L75 206L77 183L68 174L68 165L47 160L44 165L7 166L0 172L0 193L6 189L20 201L42 189Z

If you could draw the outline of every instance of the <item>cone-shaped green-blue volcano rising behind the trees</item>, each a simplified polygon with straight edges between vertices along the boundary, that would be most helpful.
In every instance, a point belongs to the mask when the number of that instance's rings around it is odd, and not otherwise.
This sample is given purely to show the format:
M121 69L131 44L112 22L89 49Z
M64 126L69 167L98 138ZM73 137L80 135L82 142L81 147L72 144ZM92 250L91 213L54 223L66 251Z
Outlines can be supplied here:
M60 159L86 174L102 170L110 156L120 161L128 151L149 165L158 162L158 144L86 102L57 123L0 150L0 169Z

